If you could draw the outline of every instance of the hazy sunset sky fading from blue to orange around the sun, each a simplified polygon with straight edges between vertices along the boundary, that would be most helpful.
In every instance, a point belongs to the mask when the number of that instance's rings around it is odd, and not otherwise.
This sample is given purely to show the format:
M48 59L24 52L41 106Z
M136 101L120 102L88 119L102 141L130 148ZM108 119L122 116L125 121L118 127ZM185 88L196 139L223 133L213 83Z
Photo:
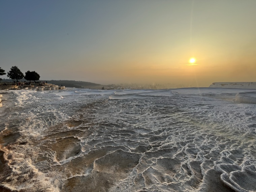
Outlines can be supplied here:
M0 67L100 84L256 81L255 8L256 0L2 0Z

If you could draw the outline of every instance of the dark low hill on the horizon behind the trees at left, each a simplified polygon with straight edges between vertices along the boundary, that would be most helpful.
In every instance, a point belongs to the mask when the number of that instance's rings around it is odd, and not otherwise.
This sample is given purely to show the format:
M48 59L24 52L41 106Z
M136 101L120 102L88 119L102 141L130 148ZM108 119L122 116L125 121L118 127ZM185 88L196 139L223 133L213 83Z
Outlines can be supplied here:
M20 82L28 82L26 79L20 79ZM54 85L63 85L65 87L75 87L75 88L83 88L83 87L94 87L94 86L101 86L100 84L84 82L84 81L70 81L70 80L39 80L40 82L51 83ZM37 81L37 82L39 82ZM12 79L3 79L1 82L12 82Z

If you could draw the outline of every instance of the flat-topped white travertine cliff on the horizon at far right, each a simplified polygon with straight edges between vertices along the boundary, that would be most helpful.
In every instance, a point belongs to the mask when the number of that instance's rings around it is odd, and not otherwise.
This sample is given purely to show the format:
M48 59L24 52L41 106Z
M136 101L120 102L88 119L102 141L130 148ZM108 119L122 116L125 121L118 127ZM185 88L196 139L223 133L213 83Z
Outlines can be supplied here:
M215 82L210 85L215 88L237 88L237 89L256 89L256 82Z

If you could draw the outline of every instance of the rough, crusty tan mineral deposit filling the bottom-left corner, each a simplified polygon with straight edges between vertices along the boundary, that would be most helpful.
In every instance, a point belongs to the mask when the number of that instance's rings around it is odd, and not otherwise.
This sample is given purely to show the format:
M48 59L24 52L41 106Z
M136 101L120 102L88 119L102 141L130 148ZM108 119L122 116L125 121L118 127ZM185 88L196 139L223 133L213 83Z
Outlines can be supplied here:
M49 179L44 176L26 154L18 151L23 147L12 143L0 150L0 191L27 192L27 191L58 191Z

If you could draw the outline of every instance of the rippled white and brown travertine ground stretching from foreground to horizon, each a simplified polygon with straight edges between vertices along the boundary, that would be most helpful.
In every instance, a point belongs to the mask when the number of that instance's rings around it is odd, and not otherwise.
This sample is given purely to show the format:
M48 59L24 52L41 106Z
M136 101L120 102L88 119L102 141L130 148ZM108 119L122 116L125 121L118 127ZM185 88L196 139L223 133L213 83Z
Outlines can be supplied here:
M256 105L235 100L243 91L6 91L0 189L256 191Z

